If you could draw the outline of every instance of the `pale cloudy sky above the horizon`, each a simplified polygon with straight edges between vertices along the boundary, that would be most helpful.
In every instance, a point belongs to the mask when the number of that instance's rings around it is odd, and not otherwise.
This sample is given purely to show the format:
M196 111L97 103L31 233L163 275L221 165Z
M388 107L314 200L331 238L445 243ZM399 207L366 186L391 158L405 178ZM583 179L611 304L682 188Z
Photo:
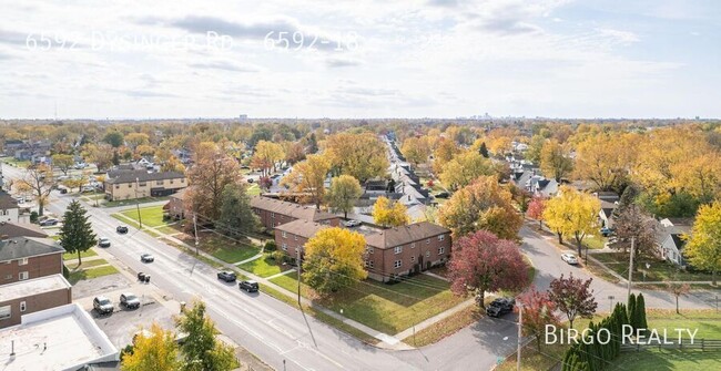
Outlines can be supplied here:
M721 117L715 0L0 9L0 118Z

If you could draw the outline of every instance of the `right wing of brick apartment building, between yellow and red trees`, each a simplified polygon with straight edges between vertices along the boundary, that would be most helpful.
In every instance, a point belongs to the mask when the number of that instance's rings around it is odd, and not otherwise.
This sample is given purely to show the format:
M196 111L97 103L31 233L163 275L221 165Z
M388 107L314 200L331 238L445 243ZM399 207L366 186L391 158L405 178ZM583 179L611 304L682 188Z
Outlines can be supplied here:
M368 277L388 281L441 265L450 258L450 230L428 221L366 236Z

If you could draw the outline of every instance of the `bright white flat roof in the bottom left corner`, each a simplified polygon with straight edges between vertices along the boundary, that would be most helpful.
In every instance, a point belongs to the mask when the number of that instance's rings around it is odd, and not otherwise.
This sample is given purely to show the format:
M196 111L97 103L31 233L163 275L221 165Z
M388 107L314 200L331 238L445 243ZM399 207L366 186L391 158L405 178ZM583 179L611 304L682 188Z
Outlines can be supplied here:
M22 324L1 330L0 339L6 371L74 371L119 358L118 349L77 303L22 316Z

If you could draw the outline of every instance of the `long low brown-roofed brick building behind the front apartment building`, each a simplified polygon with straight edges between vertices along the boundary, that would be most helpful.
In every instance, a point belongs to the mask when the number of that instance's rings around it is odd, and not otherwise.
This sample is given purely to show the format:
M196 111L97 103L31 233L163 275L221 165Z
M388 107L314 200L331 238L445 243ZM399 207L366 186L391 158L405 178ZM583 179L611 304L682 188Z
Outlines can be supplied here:
M315 206L305 206L263 196L251 197L251 207L266 230L273 230L293 220L303 219L337 227L341 218Z

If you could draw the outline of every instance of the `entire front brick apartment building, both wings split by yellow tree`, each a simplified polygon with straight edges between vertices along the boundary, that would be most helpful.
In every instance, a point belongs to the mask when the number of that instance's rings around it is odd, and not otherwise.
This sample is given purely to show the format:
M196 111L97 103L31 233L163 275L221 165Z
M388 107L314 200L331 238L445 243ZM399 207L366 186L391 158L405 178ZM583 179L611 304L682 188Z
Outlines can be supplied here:
M283 224L275 227L275 244L294 261L297 249L303 251L307 240L327 227L302 219ZM365 238L366 270L378 281L426 270L450 257L450 230L428 221L372 231Z

